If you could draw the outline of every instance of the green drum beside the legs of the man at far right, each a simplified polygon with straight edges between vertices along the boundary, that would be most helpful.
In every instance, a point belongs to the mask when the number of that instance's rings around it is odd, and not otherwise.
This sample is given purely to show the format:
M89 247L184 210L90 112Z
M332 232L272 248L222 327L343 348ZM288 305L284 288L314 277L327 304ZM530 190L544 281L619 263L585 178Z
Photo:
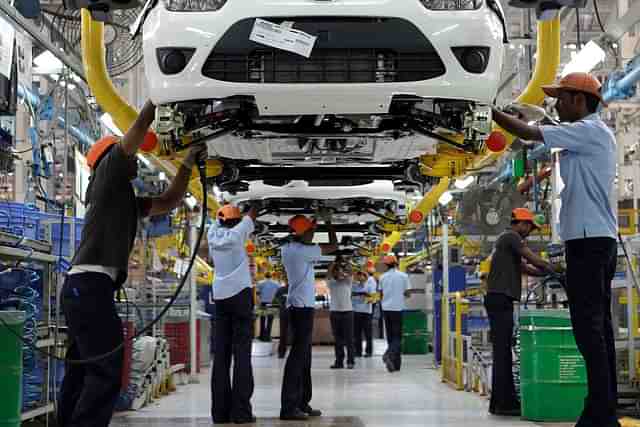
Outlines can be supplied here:
M520 314L522 416L541 422L574 422L587 395L584 359L567 310Z

